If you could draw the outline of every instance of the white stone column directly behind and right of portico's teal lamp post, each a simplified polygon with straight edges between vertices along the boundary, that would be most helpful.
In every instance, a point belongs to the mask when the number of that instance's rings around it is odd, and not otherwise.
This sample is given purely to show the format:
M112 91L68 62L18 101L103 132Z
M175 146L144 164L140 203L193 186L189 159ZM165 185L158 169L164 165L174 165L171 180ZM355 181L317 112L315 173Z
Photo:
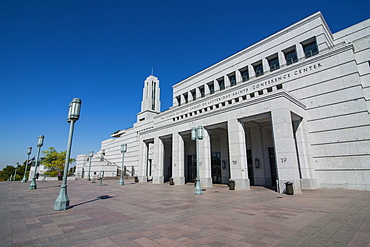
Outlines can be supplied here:
M202 187L212 187L211 138L206 128L203 139L199 140L199 176Z

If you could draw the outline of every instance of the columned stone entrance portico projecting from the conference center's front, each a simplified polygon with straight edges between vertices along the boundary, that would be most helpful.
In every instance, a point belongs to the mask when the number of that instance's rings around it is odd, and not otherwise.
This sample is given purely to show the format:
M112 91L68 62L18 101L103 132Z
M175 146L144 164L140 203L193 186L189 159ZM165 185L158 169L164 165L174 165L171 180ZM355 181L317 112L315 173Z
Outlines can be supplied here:
M231 112L226 122L204 125L203 140L199 142L202 187L226 184L232 179L236 189L276 186L282 193L284 183L289 181L293 182L295 193L301 192L301 166L308 157L299 155L298 151L306 145L299 124L303 118L292 110L304 111L298 102L287 99L286 93L277 95L269 104L261 102ZM214 120L215 115L203 118L202 123ZM196 172L195 153L190 128L154 138L153 183L166 182L170 177L175 185L192 181ZM305 170L307 181L309 173Z

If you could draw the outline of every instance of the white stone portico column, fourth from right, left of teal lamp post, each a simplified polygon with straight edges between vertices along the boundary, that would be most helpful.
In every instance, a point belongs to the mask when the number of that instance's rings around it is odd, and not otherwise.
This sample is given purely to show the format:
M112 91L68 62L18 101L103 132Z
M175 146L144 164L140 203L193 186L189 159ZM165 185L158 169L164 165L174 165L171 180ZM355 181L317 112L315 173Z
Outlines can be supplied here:
M175 185L185 184L185 146L179 133L172 134L172 177Z

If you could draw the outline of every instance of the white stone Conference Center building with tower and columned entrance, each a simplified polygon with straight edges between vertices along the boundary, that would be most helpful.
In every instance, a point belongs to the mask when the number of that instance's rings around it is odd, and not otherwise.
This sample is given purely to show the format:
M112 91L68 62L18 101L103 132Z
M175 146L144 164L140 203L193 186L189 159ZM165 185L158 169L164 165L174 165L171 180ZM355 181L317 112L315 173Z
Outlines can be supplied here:
M203 126L202 187L370 190L369 60L370 19L332 34L318 12L175 84L166 111L151 75L137 122L92 167L115 176L126 143L140 182L183 185L196 173L191 128ZM77 175L88 165L78 156Z

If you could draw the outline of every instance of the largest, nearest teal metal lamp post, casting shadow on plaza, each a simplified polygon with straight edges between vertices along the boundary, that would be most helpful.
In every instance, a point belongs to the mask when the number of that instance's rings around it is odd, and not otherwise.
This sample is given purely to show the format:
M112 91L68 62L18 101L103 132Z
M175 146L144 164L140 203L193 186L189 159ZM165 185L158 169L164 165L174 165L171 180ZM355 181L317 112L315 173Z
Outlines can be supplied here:
M55 211L67 210L69 208L69 198L67 194L67 174L69 168L69 159L71 156L73 128L74 123L80 118L81 103L82 103L81 99L74 98L72 102L69 104L67 122L70 123L70 125L69 125L67 154L64 165L63 182L62 185L60 186L59 195L54 203Z

